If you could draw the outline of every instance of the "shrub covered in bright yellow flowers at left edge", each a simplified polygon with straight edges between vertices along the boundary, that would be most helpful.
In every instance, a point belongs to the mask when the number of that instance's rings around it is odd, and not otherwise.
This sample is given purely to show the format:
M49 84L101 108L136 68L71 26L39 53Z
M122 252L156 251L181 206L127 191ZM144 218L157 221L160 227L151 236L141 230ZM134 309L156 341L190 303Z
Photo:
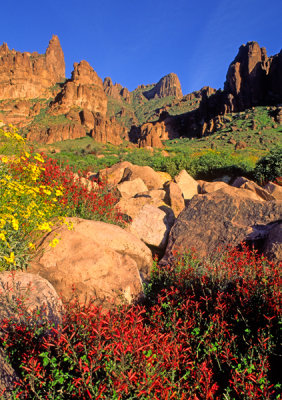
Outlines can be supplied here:
M35 248L31 232L51 231L60 216L57 199L63 188L39 184L44 159L40 154L31 157L14 128L0 129L0 143L0 270L12 270L23 268ZM13 157L5 155L11 147L17 150ZM57 243L53 240L52 247Z

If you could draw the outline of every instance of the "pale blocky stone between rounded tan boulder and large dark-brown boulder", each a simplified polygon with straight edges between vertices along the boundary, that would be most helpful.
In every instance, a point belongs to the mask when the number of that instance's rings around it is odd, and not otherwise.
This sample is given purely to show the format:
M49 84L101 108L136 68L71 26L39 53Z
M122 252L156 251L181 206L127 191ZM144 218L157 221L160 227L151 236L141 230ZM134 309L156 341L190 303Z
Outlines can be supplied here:
M145 204L127 229L147 245L163 250L174 219L169 207L160 209Z

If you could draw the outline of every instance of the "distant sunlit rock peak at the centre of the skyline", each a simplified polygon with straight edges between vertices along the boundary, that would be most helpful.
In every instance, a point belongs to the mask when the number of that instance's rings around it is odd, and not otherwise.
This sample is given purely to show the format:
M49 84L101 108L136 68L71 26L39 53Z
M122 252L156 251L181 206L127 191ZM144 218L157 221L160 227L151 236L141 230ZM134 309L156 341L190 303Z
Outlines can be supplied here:
M178 76L170 73L164 76L151 90L143 93L147 99L162 98L167 96L182 97L181 85Z

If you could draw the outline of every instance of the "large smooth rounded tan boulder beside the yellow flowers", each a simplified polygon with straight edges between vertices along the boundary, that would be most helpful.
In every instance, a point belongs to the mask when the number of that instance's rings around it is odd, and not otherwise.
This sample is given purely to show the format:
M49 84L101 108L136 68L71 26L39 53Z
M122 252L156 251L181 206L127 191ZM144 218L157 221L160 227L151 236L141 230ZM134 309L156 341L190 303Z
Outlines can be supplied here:
M128 303L142 296L152 256L141 240L104 222L79 218L67 222L41 240L29 272L46 278L65 300L72 297L73 285L81 303L94 298L106 306L120 302L120 296ZM54 239L59 243L51 247Z

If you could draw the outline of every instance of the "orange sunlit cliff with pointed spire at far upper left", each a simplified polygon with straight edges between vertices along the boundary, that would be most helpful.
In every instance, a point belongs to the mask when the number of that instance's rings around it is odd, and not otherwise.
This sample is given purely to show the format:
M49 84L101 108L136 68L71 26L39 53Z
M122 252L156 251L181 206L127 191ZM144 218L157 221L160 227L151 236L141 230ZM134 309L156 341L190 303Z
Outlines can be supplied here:
M57 36L45 54L21 53L0 46L0 100L42 97L46 90L65 79L64 54Z

